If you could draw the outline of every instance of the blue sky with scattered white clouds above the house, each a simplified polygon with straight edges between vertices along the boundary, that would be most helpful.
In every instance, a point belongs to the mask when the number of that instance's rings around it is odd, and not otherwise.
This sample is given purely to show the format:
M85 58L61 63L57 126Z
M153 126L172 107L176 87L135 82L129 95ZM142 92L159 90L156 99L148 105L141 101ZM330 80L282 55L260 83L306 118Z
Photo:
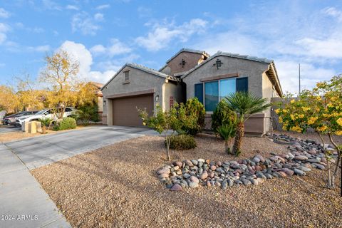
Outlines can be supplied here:
M63 48L105 82L126 62L159 69L180 48L274 59L284 91L342 73L342 1L0 1L0 84Z

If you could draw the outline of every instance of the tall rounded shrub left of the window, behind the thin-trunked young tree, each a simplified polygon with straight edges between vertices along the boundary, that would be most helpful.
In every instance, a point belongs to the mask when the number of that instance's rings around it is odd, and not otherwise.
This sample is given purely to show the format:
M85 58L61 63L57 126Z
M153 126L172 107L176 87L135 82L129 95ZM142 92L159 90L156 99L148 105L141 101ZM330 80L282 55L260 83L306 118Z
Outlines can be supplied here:
M201 132L204 128L204 105L202 105L197 98L191 98L187 100L184 108L187 119L190 119L191 122L192 117L195 118L195 124L192 124L189 121L185 122L182 126L182 131L190 135L197 135L197 133Z

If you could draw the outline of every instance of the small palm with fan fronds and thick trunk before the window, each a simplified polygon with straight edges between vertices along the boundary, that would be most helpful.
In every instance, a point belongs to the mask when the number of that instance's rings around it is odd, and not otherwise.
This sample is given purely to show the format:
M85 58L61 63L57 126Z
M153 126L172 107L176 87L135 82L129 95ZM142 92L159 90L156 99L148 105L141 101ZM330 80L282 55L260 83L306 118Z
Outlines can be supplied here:
M232 93L226 97L228 107L237 113L237 130L233 145L233 153L239 155L241 153L241 143L244 137L244 122L251 115L261 113L271 106L267 103L266 98L259 98L257 95L249 92Z

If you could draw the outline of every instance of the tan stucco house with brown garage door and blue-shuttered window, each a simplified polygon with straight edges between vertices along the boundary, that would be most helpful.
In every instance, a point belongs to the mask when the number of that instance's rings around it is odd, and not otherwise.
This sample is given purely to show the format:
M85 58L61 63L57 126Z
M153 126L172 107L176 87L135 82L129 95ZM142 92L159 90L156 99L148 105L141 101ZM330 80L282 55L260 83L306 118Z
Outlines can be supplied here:
M160 71L127 63L101 89L103 123L140 126L135 107L152 113L156 104L164 110L173 102L197 97L210 116L219 100L235 91L250 91L271 100L282 90L274 61L221 51L209 56L204 51L183 48ZM270 130L271 110L253 115L246 123L246 133L264 134Z

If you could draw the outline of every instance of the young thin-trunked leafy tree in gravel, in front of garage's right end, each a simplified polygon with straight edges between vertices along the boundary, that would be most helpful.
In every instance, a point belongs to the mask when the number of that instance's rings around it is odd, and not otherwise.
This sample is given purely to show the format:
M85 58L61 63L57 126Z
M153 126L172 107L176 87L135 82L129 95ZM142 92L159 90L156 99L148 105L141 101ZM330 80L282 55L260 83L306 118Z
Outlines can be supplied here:
M170 157L170 140L172 135L175 135L176 131L181 130L182 122L178 118L178 104L175 103L168 111L163 111L160 105L156 106L155 115L148 116L146 110L138 110L140 118L142 118L143 125L152 128L164 135L166 147L167 147L167 160L171 160Z

